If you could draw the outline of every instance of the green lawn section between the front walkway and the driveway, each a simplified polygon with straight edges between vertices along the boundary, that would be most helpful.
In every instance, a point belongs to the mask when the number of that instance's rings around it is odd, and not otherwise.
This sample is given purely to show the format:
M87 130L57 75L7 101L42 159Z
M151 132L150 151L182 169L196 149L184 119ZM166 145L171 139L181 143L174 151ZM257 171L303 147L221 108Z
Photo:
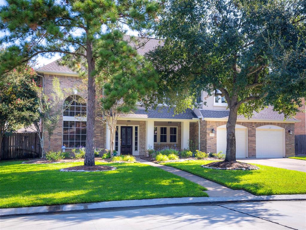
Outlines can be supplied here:
M212 161L190 160L163 163L215 181L232 189L243 189L255 195L306 194L306 173L257 165L259 170L230 171L202 168Z

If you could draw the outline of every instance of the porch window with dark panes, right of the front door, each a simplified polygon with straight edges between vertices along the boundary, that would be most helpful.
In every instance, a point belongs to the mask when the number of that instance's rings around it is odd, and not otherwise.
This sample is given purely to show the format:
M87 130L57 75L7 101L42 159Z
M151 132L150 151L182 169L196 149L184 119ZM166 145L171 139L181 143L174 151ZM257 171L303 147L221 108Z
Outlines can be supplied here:
M177 143L177 126L155 126L154 143Z

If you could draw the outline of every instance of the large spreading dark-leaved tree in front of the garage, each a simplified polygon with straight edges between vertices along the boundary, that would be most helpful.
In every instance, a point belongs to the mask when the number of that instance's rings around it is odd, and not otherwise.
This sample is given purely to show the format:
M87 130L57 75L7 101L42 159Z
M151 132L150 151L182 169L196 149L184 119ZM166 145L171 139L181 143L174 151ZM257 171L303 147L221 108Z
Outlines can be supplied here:
M268 105L294 115L306 96L306 2L303 0L170 0L148 54L159 72L160 101L176 112L196 95L224 96L226 161L236 160L237 114Z

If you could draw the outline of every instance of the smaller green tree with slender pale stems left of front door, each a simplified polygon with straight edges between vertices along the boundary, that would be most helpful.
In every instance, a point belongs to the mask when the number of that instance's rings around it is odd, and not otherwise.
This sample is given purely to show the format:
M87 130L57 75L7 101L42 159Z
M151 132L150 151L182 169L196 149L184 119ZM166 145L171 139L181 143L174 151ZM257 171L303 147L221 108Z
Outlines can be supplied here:
M145 108L153 104L158 76L151 63L138 55L136 49L123 40L123 33L118 30L105 35L99 47L105 54L96 63L97 69L102 70L97 77L101 92L100 121L107 124L110 130L112 155L120 115L136 109L137 102Z

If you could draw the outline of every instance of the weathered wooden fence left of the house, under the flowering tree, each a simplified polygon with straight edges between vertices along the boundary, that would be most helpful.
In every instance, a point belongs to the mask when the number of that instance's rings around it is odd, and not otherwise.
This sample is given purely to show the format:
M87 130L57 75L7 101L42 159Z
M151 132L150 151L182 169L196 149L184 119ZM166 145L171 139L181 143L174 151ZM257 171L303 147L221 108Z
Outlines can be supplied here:
M2 142L1 160L37 158L41 155L36 133L15 133Z

